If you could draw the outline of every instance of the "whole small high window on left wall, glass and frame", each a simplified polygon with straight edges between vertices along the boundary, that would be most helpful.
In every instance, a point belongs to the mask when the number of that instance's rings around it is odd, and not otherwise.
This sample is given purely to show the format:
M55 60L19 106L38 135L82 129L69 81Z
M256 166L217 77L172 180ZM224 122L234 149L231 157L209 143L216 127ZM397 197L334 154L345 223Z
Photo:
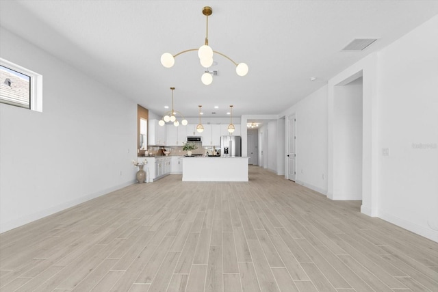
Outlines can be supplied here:
M42 76L0 58L0 103L42 111Z

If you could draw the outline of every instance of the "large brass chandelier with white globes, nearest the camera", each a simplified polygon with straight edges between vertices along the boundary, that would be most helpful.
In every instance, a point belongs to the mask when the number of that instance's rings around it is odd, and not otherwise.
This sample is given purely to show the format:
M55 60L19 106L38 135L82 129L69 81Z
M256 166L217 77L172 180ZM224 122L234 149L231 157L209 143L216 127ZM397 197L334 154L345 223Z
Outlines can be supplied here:
M222 57L225 57L229 59L234 65L235 65L235 72L239 76L245 76L248 73L248 65L245 63L236 63L228 57L227 55L224 55L223 53L220 53L218 51L214 51L209 47L208 45L208 16L210 16L213 13L213 10L211 10L211 7L205 6L203 9L203 14L207 18L207 33L205 36L205 44L203 44L199 49L188 49L185 51L181 51L177 53L176 55L172 55L171 53L164 53L161 57L162 65L166 68L170 68L175 64L175 57L178 55L181 55L183 53L187 53L190 51L198 51L198 57L199 61L201 62L201 65L206 68L205 73L201 76L201 81L205 85L211 84L213 81L213 76L211 75L211 71L208 70L208 68L213 64L213 53L216 53L218 55L221 55Z

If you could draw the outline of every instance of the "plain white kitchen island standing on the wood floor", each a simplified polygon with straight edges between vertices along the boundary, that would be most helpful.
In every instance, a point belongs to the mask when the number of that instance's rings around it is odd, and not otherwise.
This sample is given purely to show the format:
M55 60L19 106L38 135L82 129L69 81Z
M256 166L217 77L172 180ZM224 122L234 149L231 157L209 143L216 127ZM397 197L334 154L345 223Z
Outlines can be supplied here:
M248 181L248 157L183 157L183 181Z

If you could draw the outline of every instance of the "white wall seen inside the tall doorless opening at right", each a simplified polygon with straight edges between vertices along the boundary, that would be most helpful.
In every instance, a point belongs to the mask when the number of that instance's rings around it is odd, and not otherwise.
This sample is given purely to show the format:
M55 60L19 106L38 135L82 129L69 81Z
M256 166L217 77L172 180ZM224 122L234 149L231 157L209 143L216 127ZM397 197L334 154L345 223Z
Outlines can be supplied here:
M335 86L333 193L337 200L362 199L362 78Z

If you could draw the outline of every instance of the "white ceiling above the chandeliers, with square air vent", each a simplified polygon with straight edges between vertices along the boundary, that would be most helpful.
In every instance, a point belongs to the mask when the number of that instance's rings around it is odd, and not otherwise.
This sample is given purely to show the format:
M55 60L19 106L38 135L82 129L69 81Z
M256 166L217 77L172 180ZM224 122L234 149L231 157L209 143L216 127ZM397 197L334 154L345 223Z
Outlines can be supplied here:
M203 44L207 5L209 45L246 62L246 77L219 55L208 86L195 52L179 55L173 68L161 65L162 53ZM233 116L279 114L438 14L438 1L1 0L0 10L1 26L156 114L175 86L175 109L185 116L203 105L204 117L224 117L229 105ZM354 38L378 40L341 52Z

